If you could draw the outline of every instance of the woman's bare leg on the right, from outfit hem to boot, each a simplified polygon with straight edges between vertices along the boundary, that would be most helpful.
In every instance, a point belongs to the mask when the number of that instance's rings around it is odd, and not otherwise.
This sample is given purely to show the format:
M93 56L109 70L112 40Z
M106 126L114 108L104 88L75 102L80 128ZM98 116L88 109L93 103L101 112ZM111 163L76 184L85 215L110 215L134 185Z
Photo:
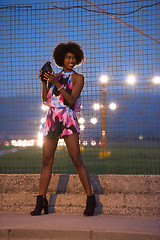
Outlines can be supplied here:
M87 196L92 196L93 193L92 193L88 171L83 163L81 152L80 152L79 134L74 133L69 136L65 136L64 140L66 142L68 152L72 159L72 162L77 169L79 178L82 182L85 192Z

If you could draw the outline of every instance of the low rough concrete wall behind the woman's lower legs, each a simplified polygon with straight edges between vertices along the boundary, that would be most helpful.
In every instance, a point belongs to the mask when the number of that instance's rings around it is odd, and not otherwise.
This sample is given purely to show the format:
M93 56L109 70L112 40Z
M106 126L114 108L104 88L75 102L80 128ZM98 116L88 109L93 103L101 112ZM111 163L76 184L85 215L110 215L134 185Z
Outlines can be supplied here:
M96 214L160 216L160 176L90 175ZM0 212L29 213L39 175L0 175ZM82 214L86 196L77 175L53 175L47 198L50 213Z

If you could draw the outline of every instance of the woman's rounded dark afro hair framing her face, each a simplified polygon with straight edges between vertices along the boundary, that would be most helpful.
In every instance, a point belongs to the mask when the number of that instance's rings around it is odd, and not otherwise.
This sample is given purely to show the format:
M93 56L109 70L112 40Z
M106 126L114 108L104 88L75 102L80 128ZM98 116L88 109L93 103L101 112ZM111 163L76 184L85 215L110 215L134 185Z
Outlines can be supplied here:
M53 59L58 67L64 66L64 58L69 52L75 56L77 66L84 62L84 52L78 43L60 43L53 51Z

